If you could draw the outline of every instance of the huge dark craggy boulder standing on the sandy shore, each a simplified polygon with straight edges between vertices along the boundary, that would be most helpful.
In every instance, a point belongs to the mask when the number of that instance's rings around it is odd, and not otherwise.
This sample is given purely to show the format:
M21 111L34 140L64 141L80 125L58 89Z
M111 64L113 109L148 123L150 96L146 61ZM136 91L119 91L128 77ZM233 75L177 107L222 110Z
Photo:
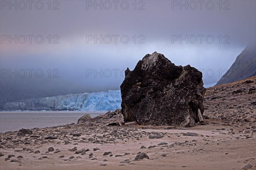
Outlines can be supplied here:
M122 114L126 122L139 125L194 126L198 112L204 113L205 92L200 71L190 65L176 66L154 52L140 60L134 71L125 71Z

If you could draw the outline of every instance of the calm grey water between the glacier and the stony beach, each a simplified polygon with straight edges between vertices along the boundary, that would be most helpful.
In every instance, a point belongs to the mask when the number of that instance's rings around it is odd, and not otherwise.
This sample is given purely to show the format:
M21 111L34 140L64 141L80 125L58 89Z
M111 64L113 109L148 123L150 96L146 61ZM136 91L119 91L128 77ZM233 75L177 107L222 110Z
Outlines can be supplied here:
M52 127L76 123L85 113L91 117L105 114L105 112L85 111L27 111L0 112L0 132L15 131L21 128Z

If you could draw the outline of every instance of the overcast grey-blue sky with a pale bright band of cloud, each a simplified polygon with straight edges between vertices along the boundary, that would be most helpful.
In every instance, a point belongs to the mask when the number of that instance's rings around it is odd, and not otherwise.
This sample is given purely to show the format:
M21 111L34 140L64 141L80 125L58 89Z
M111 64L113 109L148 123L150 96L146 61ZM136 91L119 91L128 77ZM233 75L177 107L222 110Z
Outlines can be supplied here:
M209 85L255 42L255 32L255 0L1 0L0 67L42 69L48 81L56 74L81 91L105 91L119 89L123 69L157 51L200 69Z

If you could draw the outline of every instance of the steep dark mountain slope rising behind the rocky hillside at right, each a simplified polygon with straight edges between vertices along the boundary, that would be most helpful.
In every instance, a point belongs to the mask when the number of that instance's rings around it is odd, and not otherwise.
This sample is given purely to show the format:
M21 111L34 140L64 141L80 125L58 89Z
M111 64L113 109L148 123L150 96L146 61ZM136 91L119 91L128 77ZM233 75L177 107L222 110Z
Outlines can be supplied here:
M247 47L236 57L236 61L216 85L236 82L256 75L256 45Z

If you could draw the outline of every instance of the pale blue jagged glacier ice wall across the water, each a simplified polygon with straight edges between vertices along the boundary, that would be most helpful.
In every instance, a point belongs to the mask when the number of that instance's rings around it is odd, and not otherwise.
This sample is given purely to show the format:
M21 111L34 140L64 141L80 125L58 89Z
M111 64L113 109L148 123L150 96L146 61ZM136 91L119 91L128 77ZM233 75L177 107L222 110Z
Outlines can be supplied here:
M1 103L1 111L115 111L121 108L121 91L110 90L83 94L26 99Z

